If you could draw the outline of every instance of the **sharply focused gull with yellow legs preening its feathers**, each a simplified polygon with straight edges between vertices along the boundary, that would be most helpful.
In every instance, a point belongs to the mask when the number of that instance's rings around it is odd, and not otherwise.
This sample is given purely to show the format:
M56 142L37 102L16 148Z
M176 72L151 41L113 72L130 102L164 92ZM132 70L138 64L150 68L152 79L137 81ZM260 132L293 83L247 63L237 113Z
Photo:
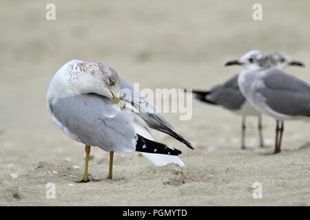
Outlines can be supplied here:
M152 120L138 120L136 115L143 113L128 111L130 98L122 101L119 97L122 84L125 81L119 78L112 67L96 61L70 61L52 78L47 96L52 120L72 140L85 144L85 171L83 177L76 181L89 181L88 159L91 146L99 146L110 152L107 175L110 179L114 152L129 155L139 151L148 156L163 155L165 164L175 162L184 166L180 159L176 159L181 151L155 142L154 138L149 138L152 135L145 137L149 133L147 121ZM134 100L131 101L134 103ZM160 118L159 122L171 129L166 129L166 133L178 137L178 140L192 148L158 113L154 117ZM147 157L155 165L163 165L163 158Z

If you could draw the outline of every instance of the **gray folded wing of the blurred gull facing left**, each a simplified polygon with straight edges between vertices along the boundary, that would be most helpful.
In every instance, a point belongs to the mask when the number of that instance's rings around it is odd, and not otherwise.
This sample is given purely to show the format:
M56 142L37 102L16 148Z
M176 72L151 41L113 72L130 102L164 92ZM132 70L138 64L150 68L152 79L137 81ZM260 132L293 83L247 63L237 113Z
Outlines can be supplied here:
M266 98L271 109L287 115L310 116L308 83L277 69L267 70L262 80L265 87L257 91Z

